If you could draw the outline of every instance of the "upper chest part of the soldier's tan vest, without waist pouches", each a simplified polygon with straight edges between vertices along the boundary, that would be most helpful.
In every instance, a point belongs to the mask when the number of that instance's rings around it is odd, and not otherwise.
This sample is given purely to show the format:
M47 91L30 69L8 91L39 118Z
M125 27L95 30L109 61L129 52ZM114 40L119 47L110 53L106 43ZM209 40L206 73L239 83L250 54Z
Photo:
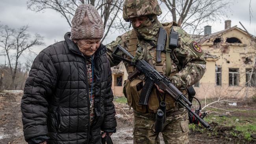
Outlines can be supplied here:
M171 48L169 48L169 34L172 26L177 26L177 24L175 22L171 22L171 23L163 23L160 25L160 31L161 29L164 29L165 35L166 35L166 38L165 38L166 41L165 41L165 44L163 44L164 47L161 49L161 51L159 51L157 48L159 44L154 45L148 41L141 41L141 43L144 45L143 54L142 54L143 59L145 59L150 65L154 66L154 68L164 76L173 76L174 74L176 74L178 70L176 66L177 59L174 59L174 56L172 55L172 50ZM158 39L160 39L159 36L158 36ZM132 30L130 41L128 43L128 52L133 56L135 56L136 54L137 44L138 44L137 35L135 31ZM161 56L161 58L158 59L157 55L159 55L158 57ZM132 73L134 71L134 66L128 65L127 71L128 71L128 74Z

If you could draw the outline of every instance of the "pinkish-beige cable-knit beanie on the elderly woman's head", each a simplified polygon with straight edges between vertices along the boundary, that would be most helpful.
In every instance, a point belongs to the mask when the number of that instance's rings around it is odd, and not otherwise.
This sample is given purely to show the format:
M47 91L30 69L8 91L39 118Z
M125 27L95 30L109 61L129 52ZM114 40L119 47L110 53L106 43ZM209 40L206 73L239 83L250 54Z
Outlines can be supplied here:
M103 22L96 8L82 4L76 8L72 19L71 39L102 39Z

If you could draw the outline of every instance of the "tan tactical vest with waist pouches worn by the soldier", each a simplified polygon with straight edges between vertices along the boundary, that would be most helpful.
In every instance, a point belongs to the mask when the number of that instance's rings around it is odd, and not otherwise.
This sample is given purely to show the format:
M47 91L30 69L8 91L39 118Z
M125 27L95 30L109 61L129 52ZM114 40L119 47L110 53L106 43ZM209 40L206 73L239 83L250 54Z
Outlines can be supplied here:
M163 23L162 24L165 31L167 32L167 39L169 39L169 34L171 31L171 27L174 25L176 26L176 23ZM128 52L132 54L133 56L136 53L137 47L137 35L134 30L132 30L130 40L128 43ZM165 47L167 46L167 42L165 44ZM146 48L145 48L146 49ZM156 49L156 48L155 48ZM166 48L165 48L166 49ZM143 50L145 52L145 50ZM147 55L147 54L146 54ZM160 63L156 63L156 50L150 53L152 57L152 63L155 69L160 72L160 74L163 74L166 76L166 54L164 52L161 52L161 59L162 61ZM131 59L130 59L131 60ZM128 65L127 72L128 74L134 72L135 67L132 65ZM171 74L169 76L174 76L178 72L178 68L176 64L173 62L173 59L171 59ZM137 76L136 78L132 79L132 81L129 81L129 79L126 80L126 96L127 96L127 102L128 105L133 107L136 111L142 112L142 113L156 113L158 107L159 107L159 101L163 100L163 94L159 95L159 100L156 94L156 88L152 88L152 92L148 99L148 105L139 105L139 96L141 94L142 89L138 89L138 85L144 85L145 81L143 76ZM186 94L186 90L184 90L183 94ZM172 109L175 107L175 101L171 96L166 94L165 102L167 104L167 110Z

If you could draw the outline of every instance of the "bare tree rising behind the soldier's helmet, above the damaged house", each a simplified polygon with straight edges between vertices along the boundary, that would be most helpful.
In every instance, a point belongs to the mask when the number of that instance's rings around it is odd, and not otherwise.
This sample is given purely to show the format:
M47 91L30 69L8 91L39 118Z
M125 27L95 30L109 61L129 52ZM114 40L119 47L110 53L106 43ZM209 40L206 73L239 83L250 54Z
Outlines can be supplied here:
M202 24L220 20L225 16L229 0L160 0L172 15L173 21L186 28L192 35L201 33ZM171 12L171 13L169 13Z

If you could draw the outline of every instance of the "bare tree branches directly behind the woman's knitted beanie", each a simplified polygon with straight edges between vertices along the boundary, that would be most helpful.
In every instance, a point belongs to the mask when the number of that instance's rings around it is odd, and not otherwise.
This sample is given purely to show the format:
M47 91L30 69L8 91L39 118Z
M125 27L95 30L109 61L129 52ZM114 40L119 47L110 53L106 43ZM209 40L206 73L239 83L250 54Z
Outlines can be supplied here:
M53 9L60 13L71 27L76 8L80 4L92 4L103 20L105 35L102 41L104 41L111 28L114 27L117 15L122 11L123 2L124 0L29 0L27 6L28 9L36 12Z

